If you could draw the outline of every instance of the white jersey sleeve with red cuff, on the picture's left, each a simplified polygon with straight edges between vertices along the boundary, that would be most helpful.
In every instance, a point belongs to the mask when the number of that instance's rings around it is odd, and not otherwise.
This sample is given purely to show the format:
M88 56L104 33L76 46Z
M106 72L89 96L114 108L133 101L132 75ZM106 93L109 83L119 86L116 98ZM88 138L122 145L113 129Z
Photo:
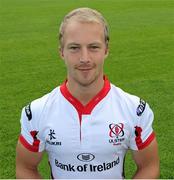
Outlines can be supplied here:
M32 152L42 152L45 148L45 143L40 137L39 115L34 112L33 106L31 103L22 109L19 141Z

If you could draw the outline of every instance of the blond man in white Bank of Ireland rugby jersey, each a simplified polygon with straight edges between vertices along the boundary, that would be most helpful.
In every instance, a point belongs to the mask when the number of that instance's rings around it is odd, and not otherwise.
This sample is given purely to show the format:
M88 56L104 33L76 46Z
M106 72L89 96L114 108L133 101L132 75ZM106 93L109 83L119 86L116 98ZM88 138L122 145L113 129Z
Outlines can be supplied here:
M60 55L67 80L22 111L16 177L41 178L37 167L49 155L52 178L124 178L132 151L134 178L158 178L157 141L149 105L104 76L108 27L102 15L79 8L60 26Z

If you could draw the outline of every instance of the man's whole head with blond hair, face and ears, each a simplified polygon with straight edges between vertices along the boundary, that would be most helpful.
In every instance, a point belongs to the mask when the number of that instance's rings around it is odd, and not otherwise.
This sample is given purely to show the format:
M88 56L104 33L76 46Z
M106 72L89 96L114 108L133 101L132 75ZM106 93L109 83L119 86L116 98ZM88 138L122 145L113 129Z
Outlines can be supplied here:
M68 81L82 86L101 82L109 41L101 14L89 8L73 10L61 24L59 39Z

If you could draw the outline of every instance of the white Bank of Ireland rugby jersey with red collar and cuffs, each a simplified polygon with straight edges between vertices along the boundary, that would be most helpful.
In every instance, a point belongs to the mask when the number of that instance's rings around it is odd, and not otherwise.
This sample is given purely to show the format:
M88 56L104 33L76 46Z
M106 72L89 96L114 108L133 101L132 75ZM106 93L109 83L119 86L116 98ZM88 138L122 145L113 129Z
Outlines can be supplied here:
M140 98L110 84L83 106L66 82L22 110L20 142L46 151L52 178L124 178L128 149L140 150L154 139L153 112Z

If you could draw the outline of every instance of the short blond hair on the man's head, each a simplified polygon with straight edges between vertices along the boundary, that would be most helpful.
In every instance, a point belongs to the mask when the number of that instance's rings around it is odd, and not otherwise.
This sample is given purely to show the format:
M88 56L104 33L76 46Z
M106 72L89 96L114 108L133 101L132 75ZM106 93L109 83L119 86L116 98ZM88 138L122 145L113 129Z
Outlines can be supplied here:
M75 19L79 22L87 22L87 23L95 22L101 24L104 29L105 43L106 46L108 46L109 30L108 30L107 21L102 16L102 14L99 13L97 10L84 7L84 8L74 9L64 17L59 29L59 43L61 48L63 47L63 35L66 25L70 22L71 19Z

